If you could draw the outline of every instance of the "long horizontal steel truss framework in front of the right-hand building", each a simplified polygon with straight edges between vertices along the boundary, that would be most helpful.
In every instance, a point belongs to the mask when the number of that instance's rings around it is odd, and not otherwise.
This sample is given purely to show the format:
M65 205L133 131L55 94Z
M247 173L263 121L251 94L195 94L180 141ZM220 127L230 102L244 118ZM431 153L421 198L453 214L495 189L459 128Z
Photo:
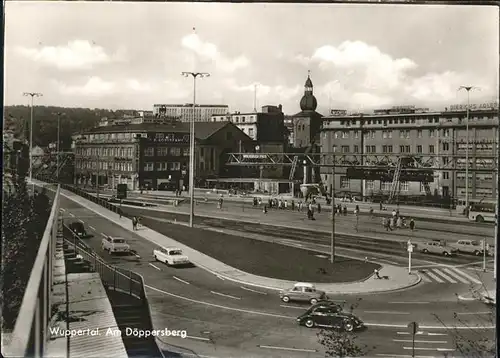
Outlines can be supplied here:
M226 165L230 166L292 166L294 157L299 162L304 160L308 166L327 168L358 167L366 169L396 168L398 160L405 159L405 171L421 171L432 169L436 171L464 171L465 155L442 154L389 154L389 153L229 153ZM497 156L479 155L469 157L469 171L496 172Z

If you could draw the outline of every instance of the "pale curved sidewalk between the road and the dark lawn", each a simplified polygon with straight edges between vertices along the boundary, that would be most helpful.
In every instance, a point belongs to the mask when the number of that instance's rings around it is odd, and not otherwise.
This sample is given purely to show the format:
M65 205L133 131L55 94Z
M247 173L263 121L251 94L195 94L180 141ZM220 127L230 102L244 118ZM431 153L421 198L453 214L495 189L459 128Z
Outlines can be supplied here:
M79 205L97 213L98 215L101 215L105 219L123 227L124 229L132 231L132 224L130 219L127 219L125 217L120 218L118 214L115 214L101 207L100 205L77 196L76 194L68 192L67 190L61 190L61 195L74 202L77 202ZM143 228L139 231L135 231L134 233L159 246L179 247L195 265L230 281L271 290L281 290L289 288L295 283L293 281L256 276L243 272L220 261L217 261L199 251L182 245L181 243L176 242L171 238L159 234L158 232L153 231L149 228ZM384 264L382 265L382 269L380 270L380 272L382 275L389 276L390 279L375 280L373 279L373 277L370 277L363 282L344 284L317 284L317 287L318 289L325 290L330 294L362 294L400 290L403 288L414 286L421 281L421 278L418 274L409 275L405 268L400 268L397 266Z

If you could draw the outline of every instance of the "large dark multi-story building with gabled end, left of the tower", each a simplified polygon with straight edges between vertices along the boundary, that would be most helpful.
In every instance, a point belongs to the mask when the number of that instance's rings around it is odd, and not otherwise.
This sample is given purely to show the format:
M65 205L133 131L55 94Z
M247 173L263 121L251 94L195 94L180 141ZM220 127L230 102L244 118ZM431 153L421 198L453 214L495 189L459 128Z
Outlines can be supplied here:
M231 123L197 123L195 175L217 177L226 153L252 140ZM74 137L75 181L81 185L127 184L130 189L182 188L189 175L189 124L171 122L101 125Z

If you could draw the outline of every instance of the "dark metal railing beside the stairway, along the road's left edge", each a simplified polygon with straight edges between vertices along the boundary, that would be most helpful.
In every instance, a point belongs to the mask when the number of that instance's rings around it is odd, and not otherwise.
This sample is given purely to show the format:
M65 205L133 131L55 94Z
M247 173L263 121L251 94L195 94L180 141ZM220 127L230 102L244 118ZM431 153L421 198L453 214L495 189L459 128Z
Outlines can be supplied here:
M74 249L75 254L88 262L92 271L99 273L104 287L134 296L147 304L141 275L106 263L66 225L63 225L63 235L64 241Z

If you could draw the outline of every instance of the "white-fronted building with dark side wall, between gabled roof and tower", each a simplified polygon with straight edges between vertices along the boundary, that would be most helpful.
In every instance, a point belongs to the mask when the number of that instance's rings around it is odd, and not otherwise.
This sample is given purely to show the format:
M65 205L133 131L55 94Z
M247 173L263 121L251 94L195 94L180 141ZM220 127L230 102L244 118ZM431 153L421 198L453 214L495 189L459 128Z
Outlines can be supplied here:
M285 116L279 106L263 106L261 112L235 112L212 116L212 122L232 122L258 143L286 141Z

